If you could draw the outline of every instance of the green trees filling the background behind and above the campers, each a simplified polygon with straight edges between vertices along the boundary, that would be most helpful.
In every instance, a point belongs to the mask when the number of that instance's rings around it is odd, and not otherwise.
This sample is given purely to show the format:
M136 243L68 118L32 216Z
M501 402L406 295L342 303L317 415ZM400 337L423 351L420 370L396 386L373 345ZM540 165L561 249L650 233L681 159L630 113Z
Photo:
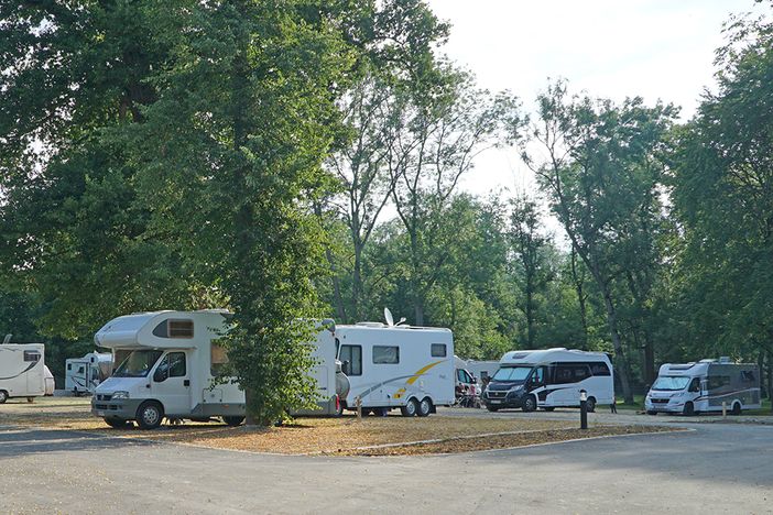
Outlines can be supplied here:
M610 352L628 402L720 354L770 385L769 21L729 22L681 122L481 90L420 0L75 3L0 4L0 331L80 352L126 313L231 307L262 423L309 399L292 320L384 306L466 358ZM491 147L536 188L461 191Z

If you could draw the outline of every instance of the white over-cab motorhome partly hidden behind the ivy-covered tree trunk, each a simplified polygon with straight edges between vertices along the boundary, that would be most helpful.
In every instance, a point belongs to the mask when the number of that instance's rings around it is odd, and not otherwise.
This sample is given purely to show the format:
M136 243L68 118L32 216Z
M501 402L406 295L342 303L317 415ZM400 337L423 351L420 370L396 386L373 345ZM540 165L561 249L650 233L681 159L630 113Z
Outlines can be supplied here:
M97 386L91 413L112 427L134 420L143 429L164 417L208 420L220 417L237 426L244 419L244 392L219 377L228 358L217 339L227 331L224 309L139 313L110 320L95 343L112 350L118 366ZM313 370L320 413L336 413L336 346L333 329L320 329Z

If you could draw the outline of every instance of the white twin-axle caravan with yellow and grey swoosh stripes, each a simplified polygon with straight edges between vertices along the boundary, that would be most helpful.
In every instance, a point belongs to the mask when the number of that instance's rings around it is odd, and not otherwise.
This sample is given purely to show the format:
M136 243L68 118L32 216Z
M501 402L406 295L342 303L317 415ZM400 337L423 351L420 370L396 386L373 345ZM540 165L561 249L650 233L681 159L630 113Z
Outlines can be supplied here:
M391 317L388 316L388 321ZM359 322L338 326L338 359L350 383L348 409L427 416L454 404L454 336L449 329Z

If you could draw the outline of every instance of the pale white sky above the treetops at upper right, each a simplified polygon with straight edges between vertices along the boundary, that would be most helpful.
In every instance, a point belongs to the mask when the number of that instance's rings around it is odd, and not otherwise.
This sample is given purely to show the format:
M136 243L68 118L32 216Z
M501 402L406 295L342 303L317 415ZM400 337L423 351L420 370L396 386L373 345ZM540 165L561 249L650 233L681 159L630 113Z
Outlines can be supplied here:
M684 120L714 85L714 52L730 13L770 10L753 0L427 1L453 25L448 56L530 111L548 77L563 77L592 97L673 102ZM461 186L482 195L533 183L510 150L483 154Z

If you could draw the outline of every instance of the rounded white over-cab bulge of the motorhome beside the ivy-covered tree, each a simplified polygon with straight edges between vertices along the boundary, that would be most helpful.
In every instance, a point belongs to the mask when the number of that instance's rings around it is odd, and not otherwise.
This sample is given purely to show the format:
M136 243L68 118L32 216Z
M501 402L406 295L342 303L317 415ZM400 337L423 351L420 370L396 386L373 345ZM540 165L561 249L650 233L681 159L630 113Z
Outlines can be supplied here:
M94 336L98 347L108 349L181 349L194 348L204 340L199 335L206 333L206 342L217 337L216 331L222 326L224 318L230 314L227 309L202 309L198 311L148 311L135 313L113 318ZM166 320L193 320L193 338L159 337L153 330ZM204 331L204 332L203 332Z

